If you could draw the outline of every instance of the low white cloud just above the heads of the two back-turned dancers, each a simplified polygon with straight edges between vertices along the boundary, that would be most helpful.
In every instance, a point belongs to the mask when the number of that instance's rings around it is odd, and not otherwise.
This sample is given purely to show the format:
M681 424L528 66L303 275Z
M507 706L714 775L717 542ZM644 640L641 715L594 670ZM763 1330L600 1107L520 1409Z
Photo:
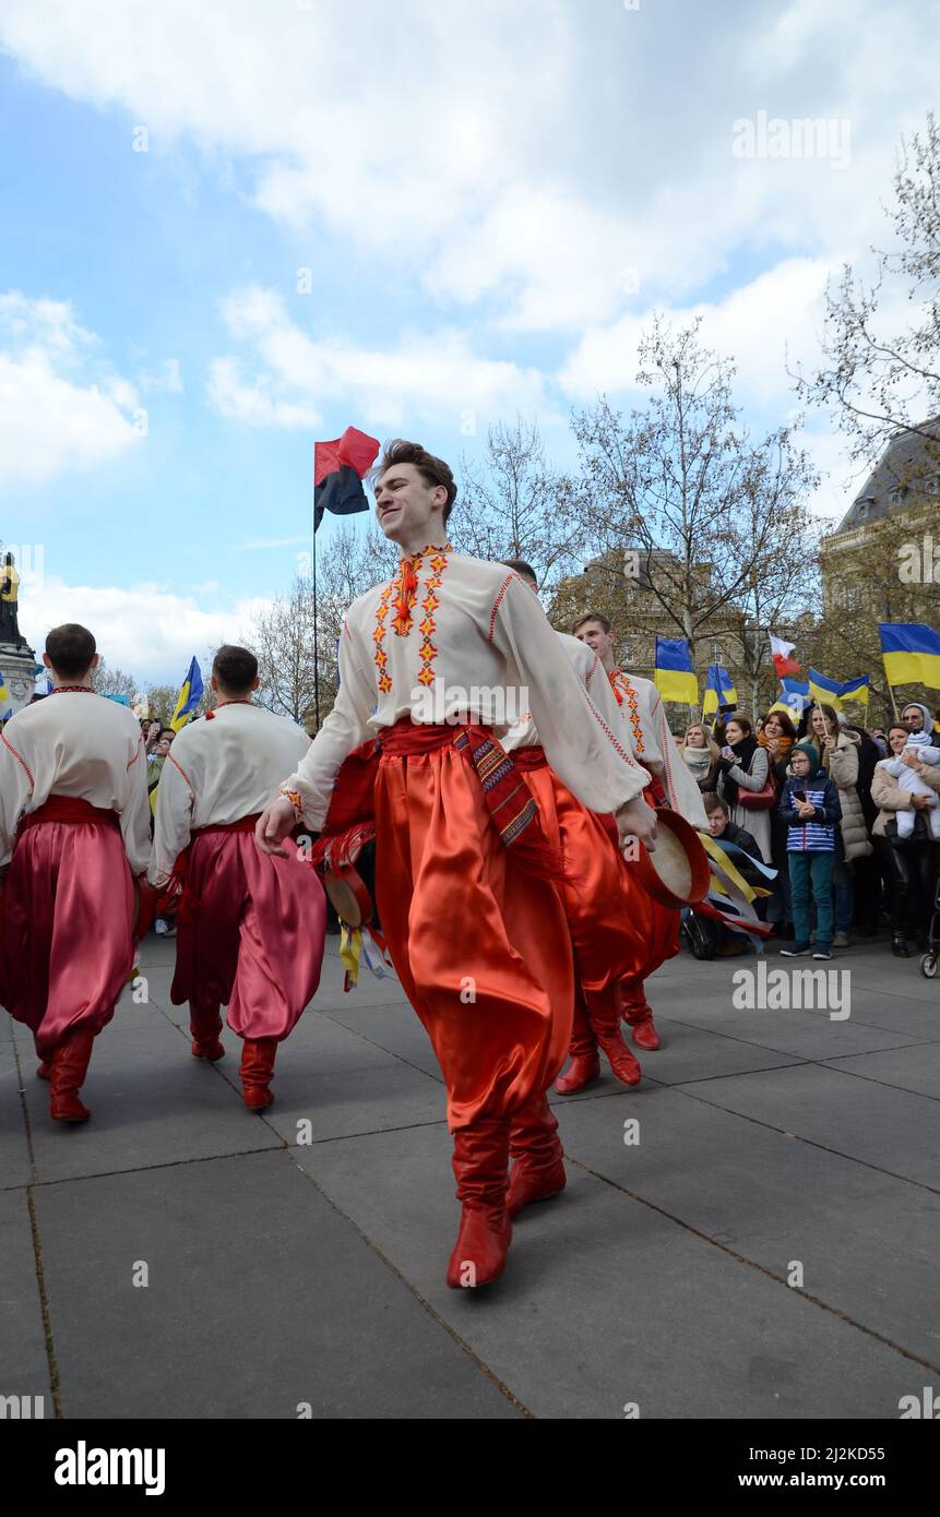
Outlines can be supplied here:
M91 628L99 652L111 666L141 684L173 684L182 680L193 654L203 664L210 649L248 636L269 604L246 596L220 610L205 610L196 595L179 595L166 584L70 586L46 575L32 586L20 625L27 642L41 649L50 627L80 622Z

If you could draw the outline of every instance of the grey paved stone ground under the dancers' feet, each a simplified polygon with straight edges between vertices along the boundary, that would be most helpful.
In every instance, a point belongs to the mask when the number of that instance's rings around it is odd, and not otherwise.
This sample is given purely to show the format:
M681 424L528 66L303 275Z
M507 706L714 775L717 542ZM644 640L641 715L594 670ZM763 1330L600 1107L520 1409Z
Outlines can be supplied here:
M644 1083L554 1098L568 1191L475 1294L443 1285L427 1039L396 981L342 994L336 942L263 1117L231 1033L220 1065L190 1057L172 942L96 1045L88 1127L53 1127L3 1015L0 1394L76 1418L896 1418L940 1385L940 981L916 959L834 960L847 1019L735 1009L753 959L667 965Z

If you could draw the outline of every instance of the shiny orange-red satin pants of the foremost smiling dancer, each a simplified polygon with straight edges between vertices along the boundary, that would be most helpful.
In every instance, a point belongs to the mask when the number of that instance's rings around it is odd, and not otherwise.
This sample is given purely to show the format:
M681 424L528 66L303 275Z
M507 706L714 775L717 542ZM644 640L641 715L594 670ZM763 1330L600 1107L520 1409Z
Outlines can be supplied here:
M381 927L437 1056L448 1126L512 1117L568 1054L562 903L501 843L477 775L451 745L380 760L375 822Z

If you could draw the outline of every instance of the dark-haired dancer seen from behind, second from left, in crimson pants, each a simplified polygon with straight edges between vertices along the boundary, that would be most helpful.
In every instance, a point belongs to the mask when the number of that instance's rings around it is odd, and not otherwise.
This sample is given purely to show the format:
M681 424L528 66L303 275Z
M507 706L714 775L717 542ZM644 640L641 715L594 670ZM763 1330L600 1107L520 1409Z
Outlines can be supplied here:
M296 853L263 859L252 842L264 802L310 739L252 701L258 660L226 643L213 660L216 707L184 727L156 792L150 880L182 886L170 1000L190 1003L193 1056L225 1048L220 1007L243 1039L241 1088L270 1106L275 1054L320 980L323 887Z

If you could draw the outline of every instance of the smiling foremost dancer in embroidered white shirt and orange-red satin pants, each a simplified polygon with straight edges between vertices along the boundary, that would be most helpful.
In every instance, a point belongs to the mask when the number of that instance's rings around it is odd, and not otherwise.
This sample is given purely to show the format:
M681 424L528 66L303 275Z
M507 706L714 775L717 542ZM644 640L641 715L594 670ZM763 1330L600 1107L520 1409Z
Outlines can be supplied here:
M257 839L272 851L298 819L326 834L374 819L383 931L446 1083L462 1201L448 1285L484 1285L503 1273L512 1236L510 1120L544 1100L562 1065L573 965L551 883L557 850L468 693L524 690L579 799L617 813L624 837L655 845L656 824L641 796L648 775L623 757L528 587L454 554L449 467L418 443L392 443L375 479L399 567L349 608L334 710ZM434 725L428 687L443 692ZM377 743L349 760L367 739Z

